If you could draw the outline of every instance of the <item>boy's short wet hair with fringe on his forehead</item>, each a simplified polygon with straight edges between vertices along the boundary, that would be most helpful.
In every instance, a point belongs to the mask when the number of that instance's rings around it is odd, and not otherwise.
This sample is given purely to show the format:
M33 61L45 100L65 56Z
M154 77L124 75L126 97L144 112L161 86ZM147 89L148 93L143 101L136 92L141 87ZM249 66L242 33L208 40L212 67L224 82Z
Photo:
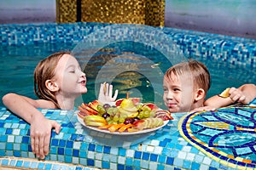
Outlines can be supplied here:
M191 78L194 84L193 88L202 88L206 94L211 86L211 77L207 66L196 60L189 60L188 62L173 65L166 71L164 76L166 81L172 80L171 73L176 77Z

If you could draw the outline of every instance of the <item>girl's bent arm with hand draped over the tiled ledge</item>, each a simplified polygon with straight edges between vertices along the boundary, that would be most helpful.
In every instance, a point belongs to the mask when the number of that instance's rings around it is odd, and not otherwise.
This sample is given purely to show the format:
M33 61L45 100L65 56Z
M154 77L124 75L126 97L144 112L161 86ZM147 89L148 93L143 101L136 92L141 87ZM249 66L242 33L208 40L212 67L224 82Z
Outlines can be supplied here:
M48 155L51 129L55 128L55 132L59 133L61 126L55 121L46 119L37 108L54 109L54 104L47 100L33 100L18 94L4 95L3 104L31 125L33 153L42 159Z

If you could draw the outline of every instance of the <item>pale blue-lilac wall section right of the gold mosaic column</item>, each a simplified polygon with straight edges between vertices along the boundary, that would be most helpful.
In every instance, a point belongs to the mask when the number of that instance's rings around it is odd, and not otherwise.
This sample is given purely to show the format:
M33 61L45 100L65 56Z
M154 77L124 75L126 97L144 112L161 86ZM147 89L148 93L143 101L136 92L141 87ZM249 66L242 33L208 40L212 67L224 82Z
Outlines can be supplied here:
M165 25L256 39L256 0L166 0Z

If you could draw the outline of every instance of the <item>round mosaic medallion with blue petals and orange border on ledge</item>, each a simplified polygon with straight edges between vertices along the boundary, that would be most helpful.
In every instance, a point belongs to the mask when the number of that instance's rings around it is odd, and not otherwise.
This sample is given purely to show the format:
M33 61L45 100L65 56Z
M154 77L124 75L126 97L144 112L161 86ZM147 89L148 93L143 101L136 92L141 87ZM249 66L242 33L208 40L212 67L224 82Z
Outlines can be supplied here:
M256 107L237 105L183 116L179 131L190 144L224 166L256 168Z

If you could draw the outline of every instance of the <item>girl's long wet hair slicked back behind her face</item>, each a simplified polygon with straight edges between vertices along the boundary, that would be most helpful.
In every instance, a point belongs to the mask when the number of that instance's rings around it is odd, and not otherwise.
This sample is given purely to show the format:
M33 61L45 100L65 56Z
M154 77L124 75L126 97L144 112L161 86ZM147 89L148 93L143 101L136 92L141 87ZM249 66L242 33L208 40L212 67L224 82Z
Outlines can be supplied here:
M59 60L64 54L71 54L70 52L58 52L49 55L47 58L41 60L34 71L34 92L39 99L50 100L55 104L57 109L60 109L55 93L46 88L45 82L55 77L55 68Z

